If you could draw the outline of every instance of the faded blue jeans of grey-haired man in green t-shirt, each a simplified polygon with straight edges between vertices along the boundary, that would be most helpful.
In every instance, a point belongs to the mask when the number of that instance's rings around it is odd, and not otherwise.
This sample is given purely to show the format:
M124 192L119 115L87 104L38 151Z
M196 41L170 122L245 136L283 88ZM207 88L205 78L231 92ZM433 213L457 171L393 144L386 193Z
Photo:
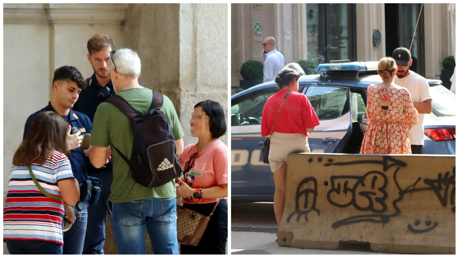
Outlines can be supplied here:
M110 223L118 253L145 254L146 227L154 254L179 254L176 204L177 198L113 203Z

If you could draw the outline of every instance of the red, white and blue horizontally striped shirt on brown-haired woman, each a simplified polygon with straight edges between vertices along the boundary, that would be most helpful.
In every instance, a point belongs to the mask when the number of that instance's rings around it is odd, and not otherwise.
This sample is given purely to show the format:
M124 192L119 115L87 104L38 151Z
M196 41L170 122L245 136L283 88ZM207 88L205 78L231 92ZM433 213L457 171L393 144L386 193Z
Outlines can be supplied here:
M61 196L57 182L73 179L72 167L65 154L50 151L43 165L32 163L39 184L55 196ZM27 166L11 168L3 213L3 240L43 240L63 245L64 204L45 196L32 180Z

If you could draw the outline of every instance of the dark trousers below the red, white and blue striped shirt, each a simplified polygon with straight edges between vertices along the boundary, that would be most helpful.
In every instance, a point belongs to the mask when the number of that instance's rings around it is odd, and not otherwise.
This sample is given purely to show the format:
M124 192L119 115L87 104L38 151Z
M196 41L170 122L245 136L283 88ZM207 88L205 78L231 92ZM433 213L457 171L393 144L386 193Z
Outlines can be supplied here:
M10 254L62 254L62 245L42 240L5 240Z

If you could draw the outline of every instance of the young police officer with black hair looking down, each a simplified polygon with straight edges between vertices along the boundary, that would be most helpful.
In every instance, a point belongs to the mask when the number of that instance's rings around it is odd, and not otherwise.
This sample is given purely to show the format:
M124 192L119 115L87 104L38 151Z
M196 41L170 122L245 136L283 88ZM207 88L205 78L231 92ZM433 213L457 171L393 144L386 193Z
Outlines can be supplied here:
M40 112L53 111L64 118L68 124L67 147L71 150L69 156L72 172L78 183L86 179L86 168L90 165L89 159L83 153L81 145L83 135L91 133L92 123L88 116L74 111L71 108L78 100L78 95L86 88L83 76L75 67L63 66L56 69L53 78L53 96L48 105L30 115L24 128L24 136L28 133L34 118ZM81 189L81 188L80 188ZM82 254L86 224L88 221L88 200L80 200L73 207L76 215L75 222L70 230L64 232L63 254Z

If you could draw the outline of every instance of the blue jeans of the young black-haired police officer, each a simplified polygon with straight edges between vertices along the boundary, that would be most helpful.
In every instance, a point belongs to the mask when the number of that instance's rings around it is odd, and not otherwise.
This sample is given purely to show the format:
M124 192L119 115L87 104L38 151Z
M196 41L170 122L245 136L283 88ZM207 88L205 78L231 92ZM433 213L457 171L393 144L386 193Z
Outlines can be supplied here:
M77 206L73 206L75 212L75 222L72 227L64 232L64 248L62 254L82 254L86 225L88 224L88 201L83 202L83 209L78 211ZM65 225L62 224L62 228Z

